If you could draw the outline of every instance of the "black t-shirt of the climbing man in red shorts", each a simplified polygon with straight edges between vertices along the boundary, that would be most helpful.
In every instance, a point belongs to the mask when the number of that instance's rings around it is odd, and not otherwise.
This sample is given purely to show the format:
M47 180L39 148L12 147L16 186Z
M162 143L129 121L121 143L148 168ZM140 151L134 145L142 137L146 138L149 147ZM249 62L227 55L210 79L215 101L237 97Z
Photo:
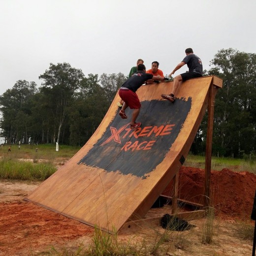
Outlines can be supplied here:
M152 78L152 74L145 73L144 71L137 71L124 82L122 87L126 87L135 93L147 80Z

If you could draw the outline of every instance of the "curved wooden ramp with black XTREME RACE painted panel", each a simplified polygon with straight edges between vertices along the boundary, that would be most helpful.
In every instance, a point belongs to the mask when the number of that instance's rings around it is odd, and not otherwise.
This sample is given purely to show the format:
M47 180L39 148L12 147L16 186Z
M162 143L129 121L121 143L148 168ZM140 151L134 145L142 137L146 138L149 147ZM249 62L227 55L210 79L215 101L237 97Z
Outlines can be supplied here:
M121 119L116 95L83 148L25 200L113 233L145 216L185 161L205 114L212 88L207 76L183 83L174 103L161 98L172 82L142 86L142 108L131 130ZM211 90L210 90L211 89Z

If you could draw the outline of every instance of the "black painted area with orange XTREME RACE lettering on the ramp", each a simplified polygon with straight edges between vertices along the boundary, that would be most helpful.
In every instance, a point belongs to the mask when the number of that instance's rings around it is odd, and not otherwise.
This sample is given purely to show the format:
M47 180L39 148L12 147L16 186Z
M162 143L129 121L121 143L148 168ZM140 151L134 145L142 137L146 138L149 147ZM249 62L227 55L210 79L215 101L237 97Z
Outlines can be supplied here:
M96 166L108 172L119 171L146 178L169 152L191 109L192 99L142 101L137 122L141 128L129 128L128 119L118 115L103 136L78 164ZM119 109L118 109L119 111Z

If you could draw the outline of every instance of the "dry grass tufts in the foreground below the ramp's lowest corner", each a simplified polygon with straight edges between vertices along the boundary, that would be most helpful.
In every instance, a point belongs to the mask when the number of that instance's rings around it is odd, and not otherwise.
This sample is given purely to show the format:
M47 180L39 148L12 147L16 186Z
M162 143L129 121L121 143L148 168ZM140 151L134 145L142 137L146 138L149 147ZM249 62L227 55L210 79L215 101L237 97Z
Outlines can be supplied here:
M113 229L114 230L114 229ZM152 229L153 231L153 229ZM117 232L113 235L95 226L92 243L88 246L80 244L78 248L63 248L58 251L54 247L45 255L51 256L160 256L173 255L177 249L188 251L191 242L183 234L171 230L155 230L153 237L130 236L120 239ZM176 254L174 254L176 255Z

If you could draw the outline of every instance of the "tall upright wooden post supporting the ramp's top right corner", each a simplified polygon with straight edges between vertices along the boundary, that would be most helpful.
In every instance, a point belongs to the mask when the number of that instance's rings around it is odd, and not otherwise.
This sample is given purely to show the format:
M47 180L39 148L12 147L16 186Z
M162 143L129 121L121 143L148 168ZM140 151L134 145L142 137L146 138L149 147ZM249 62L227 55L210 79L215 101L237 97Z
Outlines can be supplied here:
M207 138L205 149L205 180L204 180L204 206L210 205L210 183L211 183L211 165L212 165L212 137L213 137L213 121L214 121L214 103L217 88L213 82L209 90L208 102L208 124L207 124Z

